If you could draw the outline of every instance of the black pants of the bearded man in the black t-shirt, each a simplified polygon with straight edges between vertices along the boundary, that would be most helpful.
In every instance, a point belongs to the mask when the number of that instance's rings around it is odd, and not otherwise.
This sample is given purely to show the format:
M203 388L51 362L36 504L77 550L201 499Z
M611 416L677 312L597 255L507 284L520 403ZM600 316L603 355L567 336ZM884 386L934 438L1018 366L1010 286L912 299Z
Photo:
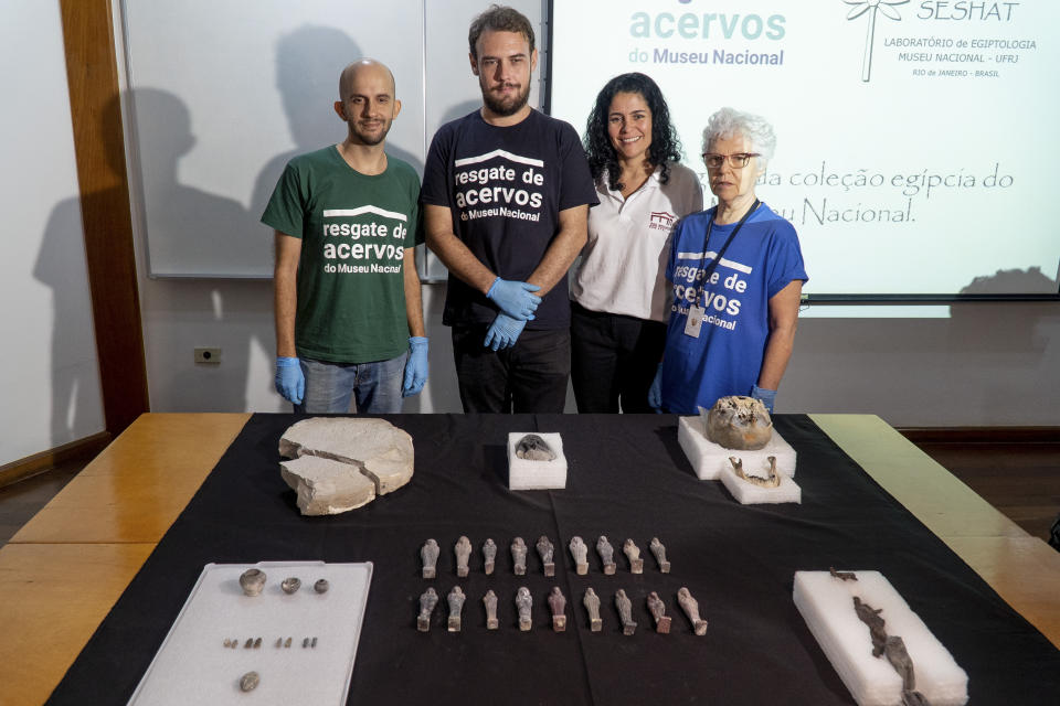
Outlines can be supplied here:
M489 327L453 327L464 411L555 413L566 406L571 332L523 330L510 349L483 345Z

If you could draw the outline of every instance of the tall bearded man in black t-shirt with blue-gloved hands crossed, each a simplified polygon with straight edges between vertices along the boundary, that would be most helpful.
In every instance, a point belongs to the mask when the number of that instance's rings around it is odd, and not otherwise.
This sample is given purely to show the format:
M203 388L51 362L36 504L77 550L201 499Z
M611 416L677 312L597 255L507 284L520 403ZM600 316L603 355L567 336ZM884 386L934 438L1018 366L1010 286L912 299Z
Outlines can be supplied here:
M483 107L431 143L421 202L449 270L442 322L465 411L562 413L570 377L566 271L595 205L574 129L527 105L538 63L526 17L494 6L468 32Z

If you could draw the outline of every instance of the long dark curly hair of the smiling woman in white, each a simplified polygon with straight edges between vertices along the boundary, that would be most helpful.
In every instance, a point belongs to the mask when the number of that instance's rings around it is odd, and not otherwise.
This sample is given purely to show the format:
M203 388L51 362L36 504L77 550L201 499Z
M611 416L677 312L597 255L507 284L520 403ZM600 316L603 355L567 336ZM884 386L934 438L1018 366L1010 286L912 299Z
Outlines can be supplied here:
M669 162L681 159L681 142L670 122L670 109L666 106L662 92L650 76L640 73L615 76L601 88L596 96L596 105L593 106L585 124L583 140L593 180L598 182L606 171L607 185L614 191L623 188L618 181L622 175L618 154L607 133L607 114L611 110L611 101L617 93L638 94L648 104L648 109L651 110L651 145L648 146L647 162L653 168L662 168L659 181L665 184L670 179Z

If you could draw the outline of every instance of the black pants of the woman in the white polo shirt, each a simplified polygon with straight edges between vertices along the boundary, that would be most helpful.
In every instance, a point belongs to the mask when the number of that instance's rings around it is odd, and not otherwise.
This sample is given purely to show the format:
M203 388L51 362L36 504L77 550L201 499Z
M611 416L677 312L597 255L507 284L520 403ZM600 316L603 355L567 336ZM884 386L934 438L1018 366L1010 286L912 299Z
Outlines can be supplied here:
M666 324L571 307L571 381L577 410L653 411L648 388L662 360Z

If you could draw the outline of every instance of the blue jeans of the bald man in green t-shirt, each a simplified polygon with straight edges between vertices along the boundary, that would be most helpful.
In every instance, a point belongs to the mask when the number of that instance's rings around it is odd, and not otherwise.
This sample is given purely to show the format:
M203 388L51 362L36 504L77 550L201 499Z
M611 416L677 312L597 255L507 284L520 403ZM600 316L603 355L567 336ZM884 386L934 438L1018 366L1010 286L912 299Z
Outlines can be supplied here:
M327 363L300 359L306 394L298 414L350 411L356 395L357 411L370 415L401 413L401 387L405 377L405 351L398 357L373 363Z

